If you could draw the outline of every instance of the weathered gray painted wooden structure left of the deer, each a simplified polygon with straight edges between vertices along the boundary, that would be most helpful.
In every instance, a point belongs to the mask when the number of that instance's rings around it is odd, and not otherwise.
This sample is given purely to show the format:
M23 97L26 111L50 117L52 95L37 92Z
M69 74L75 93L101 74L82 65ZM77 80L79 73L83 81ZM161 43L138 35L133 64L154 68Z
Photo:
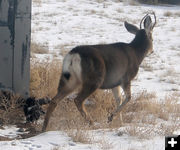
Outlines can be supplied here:
M0 90L29 96L31 0L0 0Z

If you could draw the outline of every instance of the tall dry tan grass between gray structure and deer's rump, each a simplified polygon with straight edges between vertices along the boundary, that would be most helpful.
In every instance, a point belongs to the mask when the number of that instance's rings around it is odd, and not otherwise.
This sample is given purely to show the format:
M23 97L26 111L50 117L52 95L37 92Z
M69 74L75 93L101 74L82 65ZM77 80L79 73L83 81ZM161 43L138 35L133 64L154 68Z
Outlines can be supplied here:
M32 61L30 70L30 95L37 98L53 97L57 91L60 72L61 64L57 60Z

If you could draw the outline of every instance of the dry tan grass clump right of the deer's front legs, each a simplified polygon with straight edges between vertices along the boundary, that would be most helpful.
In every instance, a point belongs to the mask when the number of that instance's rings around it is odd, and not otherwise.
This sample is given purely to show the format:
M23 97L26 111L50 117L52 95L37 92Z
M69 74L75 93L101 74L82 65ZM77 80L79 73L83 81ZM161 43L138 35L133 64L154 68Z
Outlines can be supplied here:
M124 113L124 119L127 119L126 122L154 124L157 118L167 121L170 119L170 114L180 113L179 105L176 102L177 98L167 97L163 103L156 101L156 99L154 93L149 94L146 92L135 97L135 100L130 101L126 106L124 112L133 112L136 113L136 115L132 117L128 113ZM150 120L148 119L149 115L153 116L149 118Z

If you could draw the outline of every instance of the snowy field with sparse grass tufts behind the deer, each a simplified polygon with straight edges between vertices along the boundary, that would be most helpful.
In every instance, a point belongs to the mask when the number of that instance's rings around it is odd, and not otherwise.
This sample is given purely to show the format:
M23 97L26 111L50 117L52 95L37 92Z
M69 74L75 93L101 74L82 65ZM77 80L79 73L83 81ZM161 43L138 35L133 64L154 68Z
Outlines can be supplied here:
M146 12L155 11L154 53L141 65L132 92L147 90L163 99L180 91L179 8L132 6L110 0L43 0L40 4L33 3L32 42L41 43L59 57L77 45L130 42L134 35L126 31L124 21L139 26ZM169 17L164 15L168 11Z

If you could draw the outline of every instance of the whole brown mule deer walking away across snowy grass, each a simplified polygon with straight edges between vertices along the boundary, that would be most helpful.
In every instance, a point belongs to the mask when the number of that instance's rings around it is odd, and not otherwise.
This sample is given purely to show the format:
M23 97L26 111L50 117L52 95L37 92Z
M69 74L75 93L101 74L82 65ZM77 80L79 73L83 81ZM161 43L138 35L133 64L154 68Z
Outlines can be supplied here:
M58 101L80 88L74 102L81 115L92 124L91 117L83 105L84 100L96 89L112 89L117 102L116 110L108 117L113 117L122 110L131 99L131 80L136 76L139 66L148 52L152 52L152 30L156 24L155 13L152 23L149 14L140 22L140 29L125 22L126 29L135 34L132 42L107 45L85 45L72 49L63 60L62 74L57 95L52 99L45 116L43 131ZM142 29L142 22L144 29ZM125 100L122 102L120 87Z

